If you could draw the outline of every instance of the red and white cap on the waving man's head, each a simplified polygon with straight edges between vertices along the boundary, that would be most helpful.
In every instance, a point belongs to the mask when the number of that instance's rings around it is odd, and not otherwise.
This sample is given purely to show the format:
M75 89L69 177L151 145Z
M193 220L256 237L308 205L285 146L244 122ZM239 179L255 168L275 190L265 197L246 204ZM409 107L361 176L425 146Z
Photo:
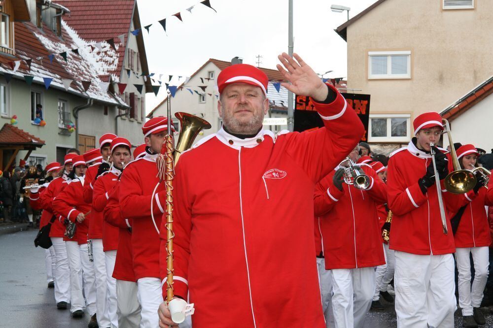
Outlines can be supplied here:
M255 66L248 64L236 64L224 68L217 76L217 88L221 93L224 88L232 83L251 84L262 89L267 95L267 75Z

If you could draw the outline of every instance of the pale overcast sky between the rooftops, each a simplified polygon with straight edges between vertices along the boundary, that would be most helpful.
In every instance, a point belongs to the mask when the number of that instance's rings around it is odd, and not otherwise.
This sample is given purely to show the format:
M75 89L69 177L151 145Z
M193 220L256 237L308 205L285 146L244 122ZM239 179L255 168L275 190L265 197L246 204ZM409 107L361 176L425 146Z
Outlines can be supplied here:
M239 56L246 64L276 68L277 55L287 52L288 0L210 0L217 10L199 0L137 0L149 71L189 76L209 58L230 61ZM293 0L294 51L324 77L346 77L346 42L333 30L347 15L330 11L331 4L351 8L350 18L376 0ZM186 9L197 4L190 14ZM183 23L176 17L181 12ZM167 17L166 35L158 23ZM163 77L164 79L164 77ZM351 81L348 87L351 88ZM149 112L165 97L146 95Z

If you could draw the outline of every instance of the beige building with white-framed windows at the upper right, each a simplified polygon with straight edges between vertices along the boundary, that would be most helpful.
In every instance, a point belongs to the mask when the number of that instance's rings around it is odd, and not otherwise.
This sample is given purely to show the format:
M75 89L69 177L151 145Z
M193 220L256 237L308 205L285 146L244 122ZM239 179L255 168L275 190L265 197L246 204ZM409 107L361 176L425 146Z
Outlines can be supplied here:
M409 142L417 115L442 112L493 75L492 23L493 1L378 0L336 29L349 83L371 95L376 149Z

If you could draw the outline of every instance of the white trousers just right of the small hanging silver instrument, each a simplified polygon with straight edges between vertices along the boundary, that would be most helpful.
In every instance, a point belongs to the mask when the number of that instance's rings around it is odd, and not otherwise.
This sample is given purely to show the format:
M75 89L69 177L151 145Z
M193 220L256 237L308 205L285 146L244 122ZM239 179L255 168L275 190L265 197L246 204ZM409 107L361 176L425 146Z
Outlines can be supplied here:
M99 327L110 327L106 284L106 259L103 239L92 239L93 265L96 278L96 313Z

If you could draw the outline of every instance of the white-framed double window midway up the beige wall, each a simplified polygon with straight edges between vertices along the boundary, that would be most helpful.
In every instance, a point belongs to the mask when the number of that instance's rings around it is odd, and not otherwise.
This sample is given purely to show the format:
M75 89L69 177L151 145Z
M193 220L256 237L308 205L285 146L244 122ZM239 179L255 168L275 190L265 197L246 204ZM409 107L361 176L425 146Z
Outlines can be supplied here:
M410 51L368 52L369 79L411 78Z

